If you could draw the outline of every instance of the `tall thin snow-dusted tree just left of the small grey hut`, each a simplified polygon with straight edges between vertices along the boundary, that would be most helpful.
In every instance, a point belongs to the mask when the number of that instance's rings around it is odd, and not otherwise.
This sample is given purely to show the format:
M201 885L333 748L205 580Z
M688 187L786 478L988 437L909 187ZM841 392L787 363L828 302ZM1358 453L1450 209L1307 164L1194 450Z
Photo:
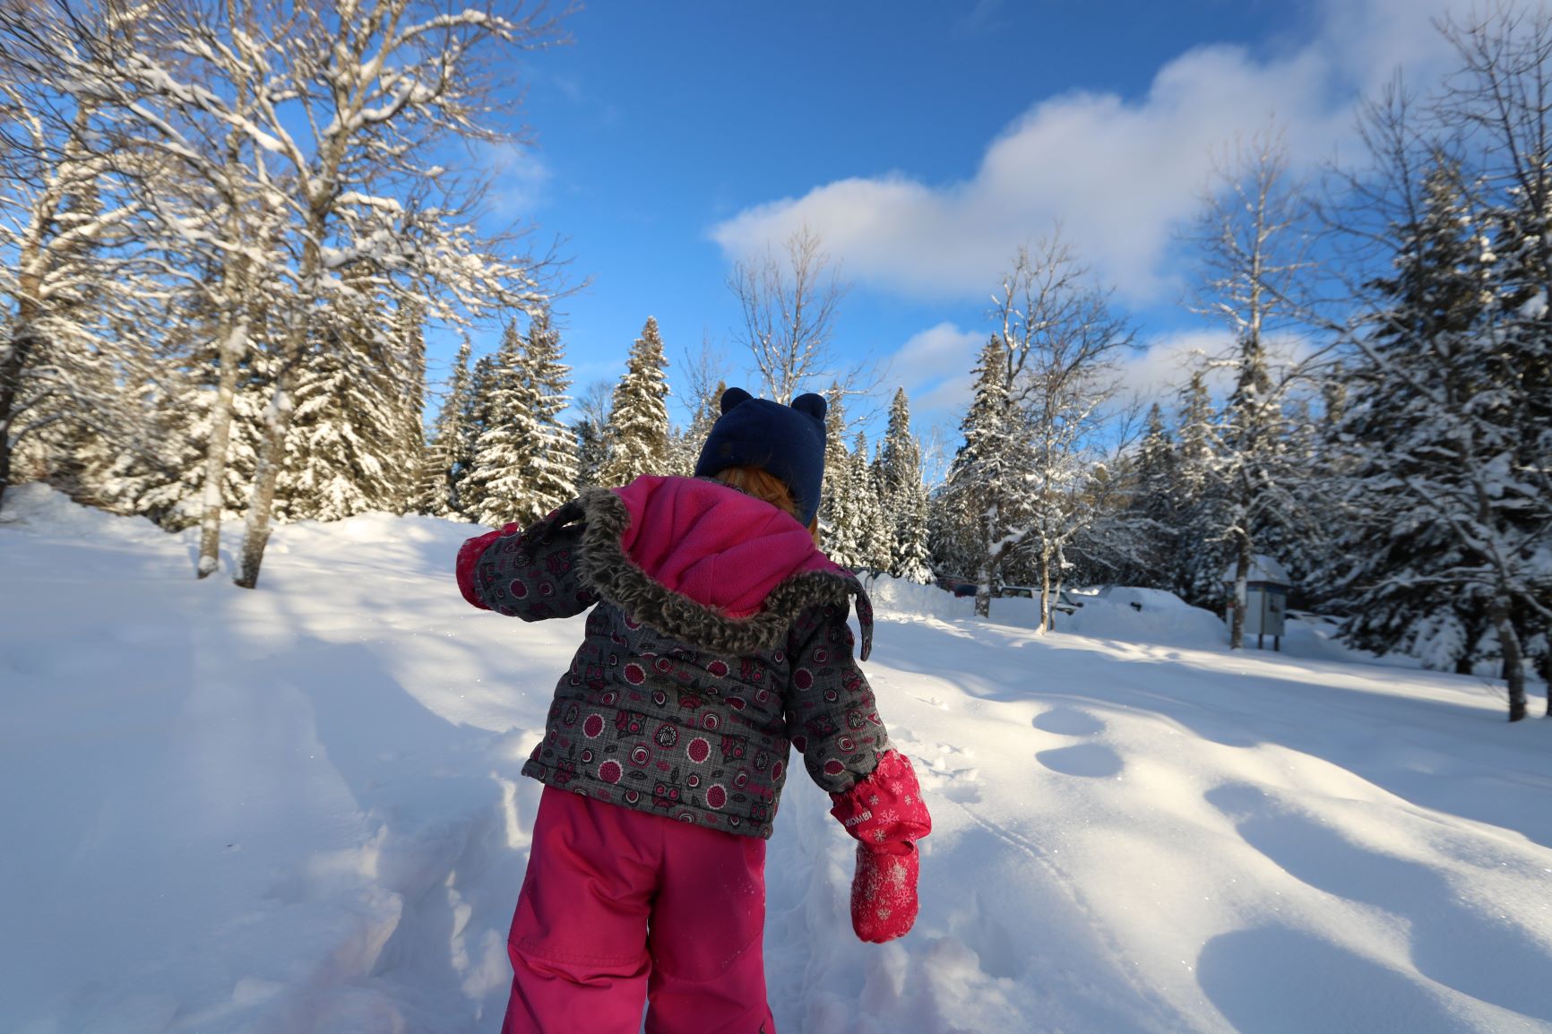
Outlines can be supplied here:
M1282 537L1302 533L1296 486L1305 470L1288 447L1284 407L1304 373L1297 363L1274 368L1270 335L1290 329L1297 315L1291 300L1310 269L1305 219L1301 189L1288 180L1287 147L1266 134L1218 172L1200 222L1201 309L1228 323L1235 338L1228 354L1209 362L1229 371L1234 388L1217 419L1200 429L1211 461L1198 509L1207 539L1229 545L1231 649L1245 644L1246 582L1256 554L1273 539L1270 529L1284 525Z

